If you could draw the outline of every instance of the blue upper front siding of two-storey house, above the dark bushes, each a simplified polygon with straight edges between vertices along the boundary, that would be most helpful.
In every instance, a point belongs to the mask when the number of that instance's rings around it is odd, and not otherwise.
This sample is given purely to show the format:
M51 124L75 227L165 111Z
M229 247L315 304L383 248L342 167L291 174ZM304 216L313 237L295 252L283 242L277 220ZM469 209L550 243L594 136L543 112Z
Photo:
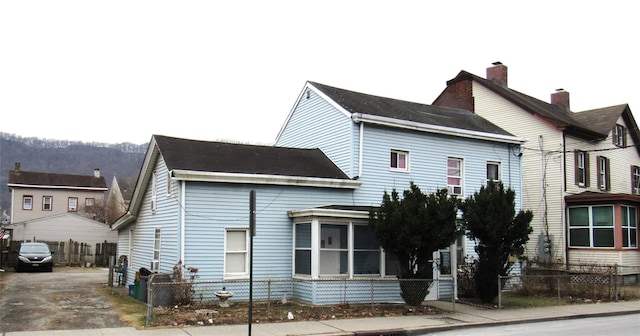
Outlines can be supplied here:
M389 169L392 149L409 152L409 172ZM385 190L401 192L411 181L427 193L446 188L448 157L463 160L464 197L486 184L487 161L501 162L503 182L520 195L520 160L507 144L366 125L363 183L355 191L356 203L377 205Z

